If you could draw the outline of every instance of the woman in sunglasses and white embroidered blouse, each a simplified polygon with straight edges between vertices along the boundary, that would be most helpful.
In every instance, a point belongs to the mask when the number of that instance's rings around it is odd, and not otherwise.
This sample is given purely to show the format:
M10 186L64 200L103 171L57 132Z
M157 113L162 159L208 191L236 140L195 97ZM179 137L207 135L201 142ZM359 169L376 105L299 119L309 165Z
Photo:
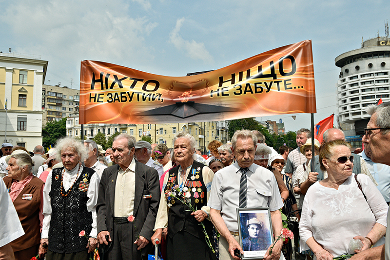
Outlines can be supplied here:
M388 205L369 177L352 173L349 145L343 140L322 144L319 161L328 178L306 193L299 224L301 250L310 248L318 260L332 260L383 244ZM351 252L352 239L361 240L362 248Z

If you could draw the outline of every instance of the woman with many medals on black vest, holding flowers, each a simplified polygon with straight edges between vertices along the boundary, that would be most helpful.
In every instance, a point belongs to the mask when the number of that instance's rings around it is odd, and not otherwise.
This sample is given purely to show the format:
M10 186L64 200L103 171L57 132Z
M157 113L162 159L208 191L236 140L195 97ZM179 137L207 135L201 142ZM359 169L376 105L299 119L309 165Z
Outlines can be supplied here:
M215 259L213 224L209 219L210 195L214 172L193 159L196 140L181 131L174 138L178 166L165 175L158 208L156 239L166 236L167 259ZM165 203L164 203L165 201ZM167 228L167 234L163 230Z

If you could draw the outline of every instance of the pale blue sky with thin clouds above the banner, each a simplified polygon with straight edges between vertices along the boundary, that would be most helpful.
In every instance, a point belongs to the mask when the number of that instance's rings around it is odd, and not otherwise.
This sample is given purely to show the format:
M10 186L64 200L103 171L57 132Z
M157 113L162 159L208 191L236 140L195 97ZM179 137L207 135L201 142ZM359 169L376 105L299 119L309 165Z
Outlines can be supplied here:
M337 115L340 69L334 59L384 36L383 0L0 0L0 51L48 60L45 84L78 88L81 60L185 76L219 69L268 50L312 40L317 114ZM270 100L273 101L273 100ZM282 101L281 105L283 104ZM310 128L310 115L282 119Z

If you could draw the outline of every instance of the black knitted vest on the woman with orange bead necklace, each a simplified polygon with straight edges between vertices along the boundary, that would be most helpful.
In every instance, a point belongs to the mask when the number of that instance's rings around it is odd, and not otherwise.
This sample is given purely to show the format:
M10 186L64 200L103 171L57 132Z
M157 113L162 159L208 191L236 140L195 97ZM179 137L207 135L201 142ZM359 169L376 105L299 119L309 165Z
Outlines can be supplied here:
M88 197L83 183L89 185L95 171L84 167L69 194L62 187L62 194L68 194L63 197L60 194L63 169L57 168L52 172L49 250L60 254L77 253L86 250L88 244L85 236L79 237L80 231L84 230L88 236L92 230L92 212L87 210Z

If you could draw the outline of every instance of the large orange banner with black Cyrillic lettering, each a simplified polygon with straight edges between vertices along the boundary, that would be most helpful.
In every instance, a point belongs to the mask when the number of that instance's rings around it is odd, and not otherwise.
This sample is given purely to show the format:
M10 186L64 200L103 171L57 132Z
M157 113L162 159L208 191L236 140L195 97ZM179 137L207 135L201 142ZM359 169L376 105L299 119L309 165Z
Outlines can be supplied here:
M81 124L177 123L315 112L311 40L187 77L81 61Z

